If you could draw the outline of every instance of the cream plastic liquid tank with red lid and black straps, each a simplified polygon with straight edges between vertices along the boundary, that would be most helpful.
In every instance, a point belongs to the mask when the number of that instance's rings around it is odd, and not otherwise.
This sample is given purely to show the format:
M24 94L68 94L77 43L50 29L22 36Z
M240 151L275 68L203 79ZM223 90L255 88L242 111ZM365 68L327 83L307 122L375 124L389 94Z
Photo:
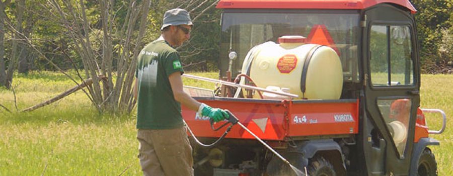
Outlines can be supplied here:
M340 58L332 48L305 44L305 40L283 36L279 44L258 45L247 54L242 73L249 74L259 87L280 87L298 99L339 99L343 87Z

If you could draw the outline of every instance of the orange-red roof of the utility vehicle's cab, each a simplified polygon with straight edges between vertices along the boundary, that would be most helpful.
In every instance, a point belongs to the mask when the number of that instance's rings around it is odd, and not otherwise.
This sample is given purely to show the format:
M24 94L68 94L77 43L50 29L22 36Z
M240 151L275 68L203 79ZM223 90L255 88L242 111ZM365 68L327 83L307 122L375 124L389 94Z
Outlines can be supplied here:
M220 0L217 9L366 9L378 4L396 4L415 14L409 0Z

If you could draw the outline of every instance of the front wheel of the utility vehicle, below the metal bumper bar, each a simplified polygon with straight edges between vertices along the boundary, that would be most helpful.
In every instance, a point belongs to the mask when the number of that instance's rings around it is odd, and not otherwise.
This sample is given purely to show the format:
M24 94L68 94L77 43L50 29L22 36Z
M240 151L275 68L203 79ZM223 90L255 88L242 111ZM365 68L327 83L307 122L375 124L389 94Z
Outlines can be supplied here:
M423 150L417 165L417 176L437 176L437 163L431 150Z

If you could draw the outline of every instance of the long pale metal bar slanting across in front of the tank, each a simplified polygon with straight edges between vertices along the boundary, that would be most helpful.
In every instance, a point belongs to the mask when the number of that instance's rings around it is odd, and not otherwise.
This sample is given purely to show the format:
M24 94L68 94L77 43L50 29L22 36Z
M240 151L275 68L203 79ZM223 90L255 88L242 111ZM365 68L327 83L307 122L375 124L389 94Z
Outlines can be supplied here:
M256 86L251 86L251 85L242 85L242 84L237 84L237 83L233 83L233 82L229 82L229 81L223 81L223 80L212 79L212 78L207 78L207 77L195 76L195 75L190 75L190 74L183 74L182 76L183 77L192 78L192 79L204 80L204 81L208 81L208 82L220 83L220 84L223 84L223 85L241 87L241 88L244 88L244 89L251 89L251 90L255 90L255 91L261 91L261 92L267 92L267 93L272 93L272 94L277 94L277 95L282 95L282 96L288 96L288 97L291 97L291 98L299 97L299 96L297 96L295 94L271 91L271 90L263 89L261 87L256 87Z

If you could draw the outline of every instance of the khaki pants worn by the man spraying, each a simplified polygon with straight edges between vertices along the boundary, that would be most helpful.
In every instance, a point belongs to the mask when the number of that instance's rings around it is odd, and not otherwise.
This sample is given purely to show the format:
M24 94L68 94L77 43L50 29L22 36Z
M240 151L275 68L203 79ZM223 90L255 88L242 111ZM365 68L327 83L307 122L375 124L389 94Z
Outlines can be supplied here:
M138 129L137 139L143 175L193 176L192 147L185 127Z

